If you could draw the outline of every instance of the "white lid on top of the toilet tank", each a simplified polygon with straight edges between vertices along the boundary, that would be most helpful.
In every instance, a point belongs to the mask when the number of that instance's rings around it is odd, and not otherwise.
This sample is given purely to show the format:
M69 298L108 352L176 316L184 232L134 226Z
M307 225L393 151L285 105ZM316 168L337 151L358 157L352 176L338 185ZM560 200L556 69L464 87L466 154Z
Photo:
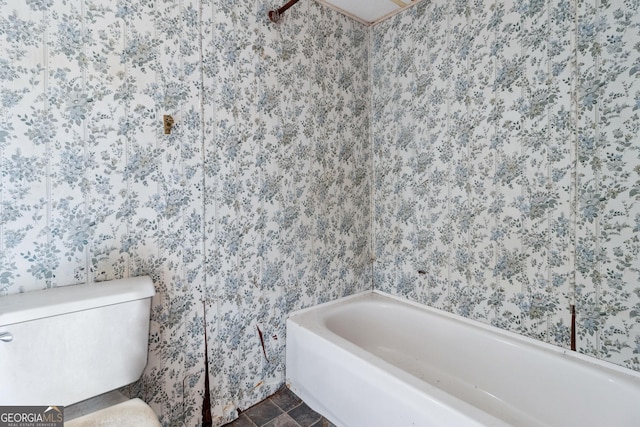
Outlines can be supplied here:
M149 276L11 294L0 297L0 326L149 298L154 294Z

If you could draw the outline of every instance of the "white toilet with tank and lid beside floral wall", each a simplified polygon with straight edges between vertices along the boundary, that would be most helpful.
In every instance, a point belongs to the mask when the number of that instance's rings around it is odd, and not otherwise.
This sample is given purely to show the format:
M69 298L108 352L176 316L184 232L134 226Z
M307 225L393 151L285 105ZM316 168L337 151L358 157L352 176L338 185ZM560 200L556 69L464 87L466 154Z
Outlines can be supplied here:
M0 297L0 406L64 406L65 427L160 426L117 391L147 364L154 293L145 276Z

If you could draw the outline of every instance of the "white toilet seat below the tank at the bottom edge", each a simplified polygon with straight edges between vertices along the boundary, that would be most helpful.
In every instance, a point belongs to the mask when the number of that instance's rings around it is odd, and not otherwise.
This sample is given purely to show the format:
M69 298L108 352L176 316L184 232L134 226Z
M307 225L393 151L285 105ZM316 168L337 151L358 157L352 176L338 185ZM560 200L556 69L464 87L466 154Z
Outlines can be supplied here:
M140 399L131 399L114 406L75 418L65 427L161 427L153 410Z

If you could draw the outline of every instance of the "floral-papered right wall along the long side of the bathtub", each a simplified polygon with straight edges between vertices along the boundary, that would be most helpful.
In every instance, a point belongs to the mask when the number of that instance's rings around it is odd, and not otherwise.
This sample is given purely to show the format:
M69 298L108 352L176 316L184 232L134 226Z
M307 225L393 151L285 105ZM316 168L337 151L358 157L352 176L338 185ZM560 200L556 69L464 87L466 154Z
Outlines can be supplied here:
M640 369L637 2L423 2L373 29L377 289Z

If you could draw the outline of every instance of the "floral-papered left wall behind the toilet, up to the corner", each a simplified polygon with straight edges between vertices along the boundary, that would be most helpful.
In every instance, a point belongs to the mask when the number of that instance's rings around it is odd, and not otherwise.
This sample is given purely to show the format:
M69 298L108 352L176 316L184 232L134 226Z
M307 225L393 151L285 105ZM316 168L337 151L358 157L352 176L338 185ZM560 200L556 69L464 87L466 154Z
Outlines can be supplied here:
M368 30L273 6L0 0L0 295L151 275L163 425L205 358L214 425L275 391L286 314L371 284Z

